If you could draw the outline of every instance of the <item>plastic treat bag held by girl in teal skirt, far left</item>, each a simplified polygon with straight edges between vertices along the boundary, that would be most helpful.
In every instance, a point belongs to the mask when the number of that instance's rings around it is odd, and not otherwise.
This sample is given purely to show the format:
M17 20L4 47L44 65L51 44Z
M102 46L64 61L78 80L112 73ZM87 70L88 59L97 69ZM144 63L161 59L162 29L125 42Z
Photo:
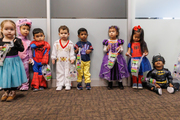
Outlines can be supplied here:
M0 66L3 66L4 59L6 54L10 50L11 47L14 46L14 42L11 41L10 44L4 44L2 50L0 50Z

